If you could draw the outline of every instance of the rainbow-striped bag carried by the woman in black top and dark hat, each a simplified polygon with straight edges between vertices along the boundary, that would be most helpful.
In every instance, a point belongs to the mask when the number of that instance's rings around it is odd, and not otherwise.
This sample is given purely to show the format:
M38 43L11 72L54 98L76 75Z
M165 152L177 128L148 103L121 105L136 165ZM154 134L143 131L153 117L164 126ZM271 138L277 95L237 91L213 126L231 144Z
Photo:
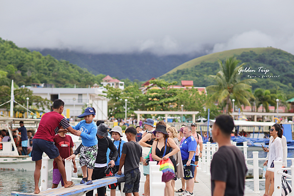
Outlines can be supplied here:
M167 145L167 141L168 140L166 140L166 145ZM165 148L162 157L165 156L166 151L167 151L167 148ZM157 165L160 165L159 171L162 171L162 173L163 173L162 174L162 182L168 182L175 177L174 166L173 166L172 160L170 158L168 158L167 160L159 161L159 163Z

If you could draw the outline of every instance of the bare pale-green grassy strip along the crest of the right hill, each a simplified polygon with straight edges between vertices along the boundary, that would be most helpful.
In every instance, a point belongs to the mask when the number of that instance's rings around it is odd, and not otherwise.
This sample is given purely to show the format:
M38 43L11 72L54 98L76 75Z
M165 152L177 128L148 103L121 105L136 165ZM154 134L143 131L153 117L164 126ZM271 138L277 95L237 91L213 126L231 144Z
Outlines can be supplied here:
M185 69L185 68L190 68L193 67L195 65L199 65L201 62L210 62L210 63L214 63L216 62L218 59L223 60L227 57L232 57L234 55L240 55L243 52L249 52L249 51L254 51L256 54L261 54L270 50L277 50L276 48L273 47L256 47L256 48L238 48L238 49L233 49L233 50L226 50L226 51L222 51L222 52L216 52L213 54L208 54L202 57L198 57L196 59L192 59L191 61L188 61L186 63L183 63L182 65L179 65L175 68L173 68L171 71L165 73L164 75L168 74L168 73L173 73L177 70L180 69ZM163 75L163 76L164 76Z

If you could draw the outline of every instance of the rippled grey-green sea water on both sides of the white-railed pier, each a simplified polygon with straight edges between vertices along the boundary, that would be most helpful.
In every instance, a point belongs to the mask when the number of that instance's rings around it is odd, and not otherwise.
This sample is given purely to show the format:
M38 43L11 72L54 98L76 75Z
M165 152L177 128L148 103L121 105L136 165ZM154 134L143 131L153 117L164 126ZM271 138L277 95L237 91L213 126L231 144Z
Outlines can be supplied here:
M267 152L264 152L261 147L249 147L247 149L248 158L252 158L252 152L258 151L258 157L265 158ZM294 158L294 149L288 149L288 158ZM259 161L259 167L263 168L264 161ZM288 167L291 166L291 160L287 161ZM248 161L248 164L253 165L252 161ZM291 171L289 173L291 175ZM78 184L79 181L74 181ZM246 186L253 190L253 182L246 182ZM40 186L40 182L39 182ZM52 186L52 173L48 174L48 188ZM60 187L61 185L59 185ZM0 196L10 196L11 192L34 192L34 172L17 172L17 171L2 171L0 170ZM259 183L259 189L265 190L265 182Z

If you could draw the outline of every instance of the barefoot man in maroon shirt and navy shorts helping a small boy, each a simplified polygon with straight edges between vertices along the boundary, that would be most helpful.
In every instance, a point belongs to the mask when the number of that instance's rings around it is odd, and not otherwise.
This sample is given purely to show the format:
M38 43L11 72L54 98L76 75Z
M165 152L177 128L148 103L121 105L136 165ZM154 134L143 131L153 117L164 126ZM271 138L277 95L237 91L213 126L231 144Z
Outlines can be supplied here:
M67 120L61 115L64 109L64 102L61 99L56 99L53 103L53 111L45 113L40 121L38 131L33 138L33 149L32 149L32 160L36 161L34 180L35 180L35 194L40 193L39 189L39 179L40 171L42 167L42 154L45 152L50 159L54 159L58 165L58 170L62 175L64 181L64 187L72 187L74 182L67 181L65 167L63 165L61 156L57 147L54 145L53 138L58 132L65 131L67 129L69 132L74 134L74 130ZM63 128L60 130L60 128Z

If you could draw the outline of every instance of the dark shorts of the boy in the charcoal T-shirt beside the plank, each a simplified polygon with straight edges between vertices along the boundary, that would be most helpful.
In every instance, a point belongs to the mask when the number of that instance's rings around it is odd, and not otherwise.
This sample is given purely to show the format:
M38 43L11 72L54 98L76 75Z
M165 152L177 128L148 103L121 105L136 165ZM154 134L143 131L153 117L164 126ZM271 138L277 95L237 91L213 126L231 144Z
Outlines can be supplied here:
M124 174L125 182L123 193L139 193L141 173L139 168Z

